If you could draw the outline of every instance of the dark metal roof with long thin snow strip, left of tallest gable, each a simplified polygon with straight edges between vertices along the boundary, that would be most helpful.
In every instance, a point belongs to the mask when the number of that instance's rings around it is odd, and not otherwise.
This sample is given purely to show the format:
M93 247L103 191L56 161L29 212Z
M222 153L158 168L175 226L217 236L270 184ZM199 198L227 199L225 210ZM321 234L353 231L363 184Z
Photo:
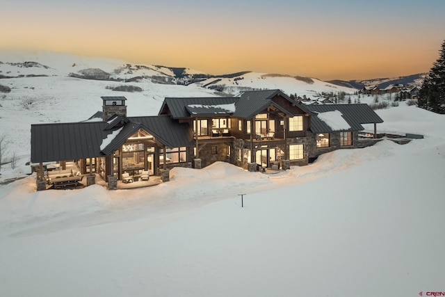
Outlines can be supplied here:
M166 97L161 106L161 111L159 115L163 113L165 108L168 108L172 118L190 118L191 112L199 112L199 115L209 115L215 112L220 112L222 109L218 106L226 104L234 104L238 100L235 97L189 97L189 98L173 98ZM188 106L209 106L207 109L197 109ZM211 107L213 106L213 108ZM227 112L226 114L232 114L232 112Z

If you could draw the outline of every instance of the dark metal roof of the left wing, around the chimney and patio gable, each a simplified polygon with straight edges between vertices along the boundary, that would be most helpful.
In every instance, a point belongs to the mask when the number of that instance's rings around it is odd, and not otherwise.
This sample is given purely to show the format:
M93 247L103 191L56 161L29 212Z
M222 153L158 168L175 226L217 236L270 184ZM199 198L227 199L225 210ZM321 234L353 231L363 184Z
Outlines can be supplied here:
M140 128L167 147L194 145L193 131L169 116L128 118L120 133L103 150L102 141L121 127L106 129L107 122L31 125L31 162L64 161L111 154Z

